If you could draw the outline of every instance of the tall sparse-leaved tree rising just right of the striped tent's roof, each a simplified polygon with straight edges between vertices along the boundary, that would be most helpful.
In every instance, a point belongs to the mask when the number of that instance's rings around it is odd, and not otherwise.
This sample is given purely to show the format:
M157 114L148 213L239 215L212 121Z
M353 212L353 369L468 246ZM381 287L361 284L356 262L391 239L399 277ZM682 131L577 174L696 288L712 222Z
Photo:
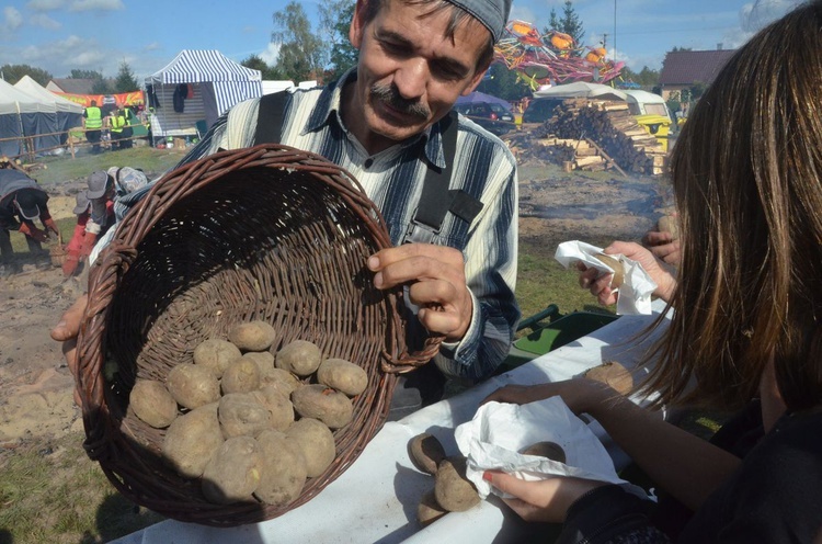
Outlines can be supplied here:
M319 79L326 66L328 48L311 31L311 23L302 5L292 0L283 11L274 13L271 41L279 44L275 68L287 79L302 81Z

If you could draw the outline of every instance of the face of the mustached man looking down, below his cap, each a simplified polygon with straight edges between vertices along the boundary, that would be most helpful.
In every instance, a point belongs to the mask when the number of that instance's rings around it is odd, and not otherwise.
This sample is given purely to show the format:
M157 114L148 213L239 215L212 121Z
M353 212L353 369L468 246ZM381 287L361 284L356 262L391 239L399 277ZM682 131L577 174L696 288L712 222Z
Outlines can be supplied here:
M386 0L377 16L363 24L357 3L350 37L359 49L353 100L358 111L347 112L346 123L372 152L375 141L388 147L441 120L484 73L477 71L477 59L488 30L470 20L452 39L445 35L450 13L421 18L430 9Z

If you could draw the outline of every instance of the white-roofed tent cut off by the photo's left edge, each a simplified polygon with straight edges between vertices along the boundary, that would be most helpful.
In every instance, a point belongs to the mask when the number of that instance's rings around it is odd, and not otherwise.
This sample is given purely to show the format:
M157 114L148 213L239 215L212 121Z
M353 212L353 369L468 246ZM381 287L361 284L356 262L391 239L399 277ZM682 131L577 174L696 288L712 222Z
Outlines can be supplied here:
M0 79L0 152L14 157L25 152L23 137L34 136L34 150L57 147L57 113L47 104ZM53 136L38 136L53 134ZM10 139L9 139L10 138Z

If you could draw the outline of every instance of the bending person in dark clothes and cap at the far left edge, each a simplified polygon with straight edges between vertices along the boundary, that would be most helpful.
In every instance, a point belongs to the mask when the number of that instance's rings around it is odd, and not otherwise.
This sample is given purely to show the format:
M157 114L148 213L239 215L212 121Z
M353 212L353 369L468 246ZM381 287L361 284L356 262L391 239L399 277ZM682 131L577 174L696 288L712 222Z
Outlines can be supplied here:
M43 253L42 242L48 239L49 230L58 234L47 203L48 194L36 181L8 159L0 160L0 261L4 273L13 268L11 230L25 235L34 256ZM41 220L43 230L34 224L35 219Z

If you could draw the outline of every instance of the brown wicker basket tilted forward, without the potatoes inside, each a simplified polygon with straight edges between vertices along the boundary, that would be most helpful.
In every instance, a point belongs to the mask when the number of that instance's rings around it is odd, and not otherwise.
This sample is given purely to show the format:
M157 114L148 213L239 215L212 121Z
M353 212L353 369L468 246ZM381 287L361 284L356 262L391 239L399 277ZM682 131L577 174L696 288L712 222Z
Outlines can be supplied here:
M91 270L78 342L84 447L133 501L163 515L230 526L315 497L385 422L396 374L427 362L441 338L409 348L401 291L374 288L369 254L390 246L362 188L322 157L277 145L222 151L165 175L117 228ZM164 430L128 408L136 378L164 381L208 338L264 319L272 348L295 339L366 370L336 458L287 507L208 502L159 451Z

